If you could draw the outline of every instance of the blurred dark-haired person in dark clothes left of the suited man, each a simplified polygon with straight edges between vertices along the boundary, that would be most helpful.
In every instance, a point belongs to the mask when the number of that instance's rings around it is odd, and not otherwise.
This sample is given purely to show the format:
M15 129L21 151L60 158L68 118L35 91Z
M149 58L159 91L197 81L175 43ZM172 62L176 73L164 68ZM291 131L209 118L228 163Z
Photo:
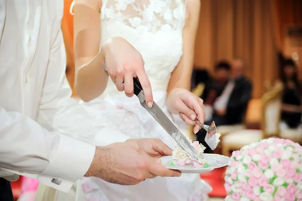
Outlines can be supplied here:
M231 66L228 62L221 61L216 63L214 72L215 78L205 83L205 88L201 98L204 101L206 121L210 121L212 119L213 103L216 98L222 94L226 84L228 84L230 79L230 70Z

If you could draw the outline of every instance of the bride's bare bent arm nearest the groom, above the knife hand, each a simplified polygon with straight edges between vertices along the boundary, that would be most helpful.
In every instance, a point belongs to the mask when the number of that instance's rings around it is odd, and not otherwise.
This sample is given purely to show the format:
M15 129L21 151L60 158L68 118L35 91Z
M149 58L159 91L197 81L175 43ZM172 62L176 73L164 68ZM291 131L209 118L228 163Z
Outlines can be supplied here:
M74 3L74 88L84 101L100 96L108 83L108 74L103 68L104 55L99 49L101 4L101 0L75 0Z

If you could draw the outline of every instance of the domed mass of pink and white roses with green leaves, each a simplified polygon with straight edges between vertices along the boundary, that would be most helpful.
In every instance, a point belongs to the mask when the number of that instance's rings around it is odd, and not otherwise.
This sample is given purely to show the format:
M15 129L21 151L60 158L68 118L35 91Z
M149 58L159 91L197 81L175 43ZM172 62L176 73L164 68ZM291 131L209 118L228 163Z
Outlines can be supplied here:
M302 200L301 154L299 144L277 138L233 152L225 172L225 200Z

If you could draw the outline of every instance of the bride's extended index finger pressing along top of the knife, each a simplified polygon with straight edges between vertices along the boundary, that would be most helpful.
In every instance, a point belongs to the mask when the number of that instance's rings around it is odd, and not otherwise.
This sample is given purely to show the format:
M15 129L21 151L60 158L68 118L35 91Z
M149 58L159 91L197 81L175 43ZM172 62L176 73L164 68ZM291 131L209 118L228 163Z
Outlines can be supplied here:
M148 107L152 107L153 106L152 88L145 71L144 70L136 71L135 74L137 75L137 78L143 89L143 93Z

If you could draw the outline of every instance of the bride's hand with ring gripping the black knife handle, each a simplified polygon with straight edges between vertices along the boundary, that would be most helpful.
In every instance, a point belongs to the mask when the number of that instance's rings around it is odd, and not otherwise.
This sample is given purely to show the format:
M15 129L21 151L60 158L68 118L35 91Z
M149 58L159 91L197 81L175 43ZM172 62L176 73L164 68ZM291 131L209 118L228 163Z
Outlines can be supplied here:
M150 81L144 70L141 54L125 39L113 37L103 44L105 65L108 74L118 91L125 91L128 97L133 96L133 77L137 77L142 86L146 102L153 105Z

